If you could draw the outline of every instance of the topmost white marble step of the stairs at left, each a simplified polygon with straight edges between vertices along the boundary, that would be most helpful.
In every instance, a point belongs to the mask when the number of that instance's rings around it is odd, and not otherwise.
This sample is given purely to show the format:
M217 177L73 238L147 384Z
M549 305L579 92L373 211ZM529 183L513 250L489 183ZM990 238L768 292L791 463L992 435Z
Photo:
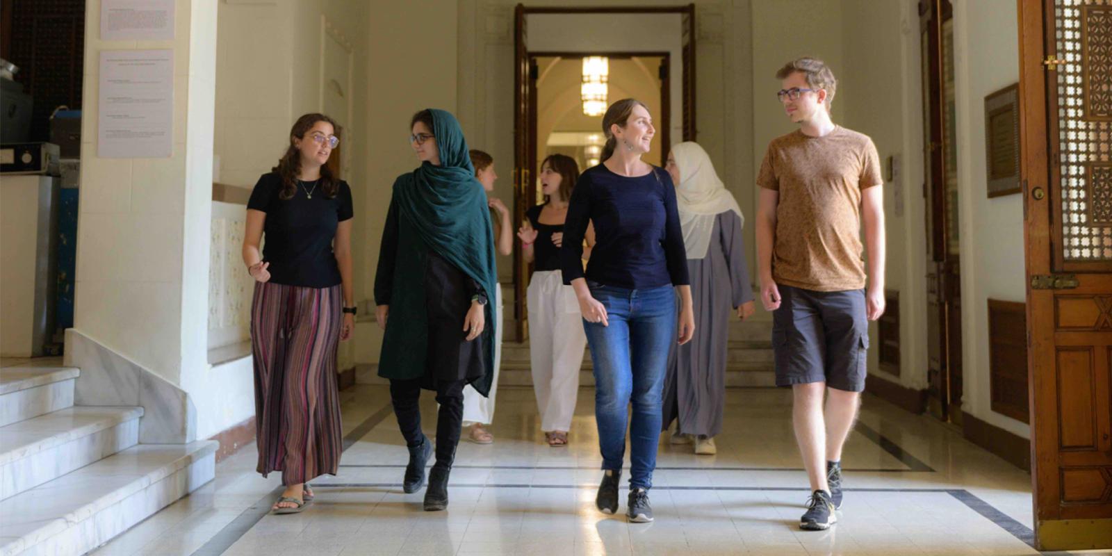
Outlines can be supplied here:
M73 367L0 369L0 427L73 405Z

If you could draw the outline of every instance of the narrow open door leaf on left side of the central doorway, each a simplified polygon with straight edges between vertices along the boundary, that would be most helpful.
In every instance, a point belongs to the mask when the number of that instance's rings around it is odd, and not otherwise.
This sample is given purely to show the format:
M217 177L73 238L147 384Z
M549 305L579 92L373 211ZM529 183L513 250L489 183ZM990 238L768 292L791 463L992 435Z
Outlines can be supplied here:
M514 8L514 229L525 221L525 211L536 203L533 168L536 167L537 68L526 42L525 6ZM514 249L514 341L528 334L525 291L529 285L529 264L520 249ZM503 324L505 326L505 324Z

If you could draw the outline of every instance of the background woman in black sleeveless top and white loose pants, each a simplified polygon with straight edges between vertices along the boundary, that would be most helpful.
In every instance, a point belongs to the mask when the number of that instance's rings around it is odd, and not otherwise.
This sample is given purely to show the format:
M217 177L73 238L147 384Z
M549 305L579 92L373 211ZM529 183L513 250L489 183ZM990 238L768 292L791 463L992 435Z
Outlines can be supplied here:
M540 165L545 203L526 212L517 236L526 260L533 262L533 278L527 292L529 310L529 361L533 389L540 409L540 429L549 446L567 446L575 401L579 394L579 367L587 336L575 290L564 285L559 248L564 239L564 218L572 188L579 178L575 160L552 155ZM587 230L588 257L594 230Z

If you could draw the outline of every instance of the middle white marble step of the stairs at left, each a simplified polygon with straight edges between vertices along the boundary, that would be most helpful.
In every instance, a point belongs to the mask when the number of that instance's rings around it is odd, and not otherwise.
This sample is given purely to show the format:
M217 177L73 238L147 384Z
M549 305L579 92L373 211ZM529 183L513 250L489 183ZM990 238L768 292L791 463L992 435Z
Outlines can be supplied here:
M139 443L141 407L70 407L0 427L0 500Z

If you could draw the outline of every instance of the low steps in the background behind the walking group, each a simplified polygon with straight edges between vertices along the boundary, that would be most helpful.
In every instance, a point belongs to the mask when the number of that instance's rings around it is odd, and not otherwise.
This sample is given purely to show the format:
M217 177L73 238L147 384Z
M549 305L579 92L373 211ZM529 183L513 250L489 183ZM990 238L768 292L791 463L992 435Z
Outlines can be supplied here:
M507 336L512 336L513 321L505 322ZM698 334L696 331L696 334ZM503 341L502 369L498 371L499 386L533 386L529 370L529 341ZM590 353L585 349L579 370L579 386L594 386L594 366ZM729 321L729 344L726 355L727 387L775 386L772 353L772 320Z

